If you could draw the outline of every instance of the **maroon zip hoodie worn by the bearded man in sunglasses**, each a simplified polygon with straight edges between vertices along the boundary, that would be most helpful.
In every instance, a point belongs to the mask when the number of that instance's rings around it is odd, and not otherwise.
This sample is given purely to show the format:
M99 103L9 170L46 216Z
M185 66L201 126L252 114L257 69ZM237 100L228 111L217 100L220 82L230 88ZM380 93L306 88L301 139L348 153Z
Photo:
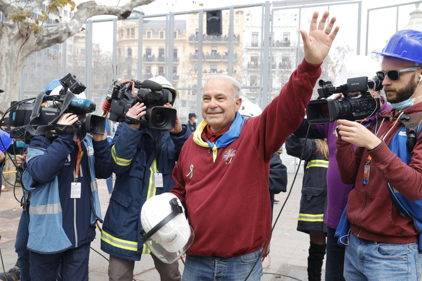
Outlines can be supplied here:
M394 110L392 110L394 114ZM422 102L404 110L405 114L422 112ZM389 127L392 117L389 110L379 115L378 136ZM396 114L391 121L398 117ZM381 120L384 123L381 128ZM338 162L341 180L345 184L354 183L347 200L347 219L353 233L363 239L383 243L406 244L417 241L417 230L409 217L401 217L390 197L387 182L409 200L422 198L422 139L419 137L411 155L409 165L403 163L388 145L395 133L403 126L397 123L383 142L368 152L365 147L353 150L349 142L336 141L335 158ZM374 132L373 128L372 132ZM402 129L404 131L404 128ZM406 137L406 136L403 136ZM363 169L368 155L371 155L371 168L368 185L362 184Z

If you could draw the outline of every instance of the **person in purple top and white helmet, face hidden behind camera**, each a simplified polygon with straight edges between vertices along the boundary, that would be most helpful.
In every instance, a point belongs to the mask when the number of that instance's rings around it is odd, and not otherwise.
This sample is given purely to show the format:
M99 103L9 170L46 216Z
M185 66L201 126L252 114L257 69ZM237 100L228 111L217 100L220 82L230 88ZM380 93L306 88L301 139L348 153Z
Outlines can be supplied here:
M367 67L362 67L365 65ZM372 77L379 70L379 64L368 56L352 56L344 62L341 69L341 80L346 78L368 76ZM371 92L374 97L379 97L379 93ZM339 94L338 96L340 96ZM338 97L336 96L336 97ZM380 111L388 110L390 107L381 96L382 107ZM377 113L379 114L379 113ZM362 125L367 127L375 117L367 118ZM299 128L293 132L293 135L304 138L309 128L309 139L327 139L328 154L330 161L327 169L327 210L324 214L324 224L327 226L327 248L325 258L325 279L326 280L344 280L344 246L338 245L338 237L335 236L335 230L340 221L341 214L347 203L347 194L352 190L353 185L341 182L338 173L338 165L335 159L335 141L337 140L337 123L327 124L309 124L305 118Z

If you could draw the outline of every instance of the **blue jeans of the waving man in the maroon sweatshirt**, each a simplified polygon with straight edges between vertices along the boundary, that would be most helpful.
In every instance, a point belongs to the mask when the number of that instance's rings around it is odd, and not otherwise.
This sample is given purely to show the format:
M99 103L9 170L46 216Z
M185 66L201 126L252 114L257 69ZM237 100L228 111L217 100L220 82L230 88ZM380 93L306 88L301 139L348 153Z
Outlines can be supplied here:
M204 257L186 255L182 281L239 281L245 280L258 260L248 281L259 281L262 276L262 249L239 257Z

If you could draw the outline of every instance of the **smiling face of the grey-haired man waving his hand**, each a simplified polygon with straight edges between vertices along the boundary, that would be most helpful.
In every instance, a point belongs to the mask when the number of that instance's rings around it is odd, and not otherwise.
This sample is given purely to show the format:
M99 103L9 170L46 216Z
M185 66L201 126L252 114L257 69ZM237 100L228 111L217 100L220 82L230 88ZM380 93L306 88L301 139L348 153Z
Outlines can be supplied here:
M235 120L242 99L233 100L234 87L225 79L212 79L206 84L202 95L202 118L211 131L219 133Z

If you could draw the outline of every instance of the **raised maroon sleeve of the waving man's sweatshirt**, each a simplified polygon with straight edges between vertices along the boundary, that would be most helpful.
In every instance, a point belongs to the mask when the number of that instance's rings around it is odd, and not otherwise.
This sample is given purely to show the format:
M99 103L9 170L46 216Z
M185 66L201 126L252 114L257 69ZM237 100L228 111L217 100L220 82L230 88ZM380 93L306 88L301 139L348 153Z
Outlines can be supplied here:
M303 59L280 94L261 115L251 120L253 141L257 150L263 152L260 154L265 163L271 160L271 155L281 147L287 136L299 127L320 75L320 64L308 64Z

